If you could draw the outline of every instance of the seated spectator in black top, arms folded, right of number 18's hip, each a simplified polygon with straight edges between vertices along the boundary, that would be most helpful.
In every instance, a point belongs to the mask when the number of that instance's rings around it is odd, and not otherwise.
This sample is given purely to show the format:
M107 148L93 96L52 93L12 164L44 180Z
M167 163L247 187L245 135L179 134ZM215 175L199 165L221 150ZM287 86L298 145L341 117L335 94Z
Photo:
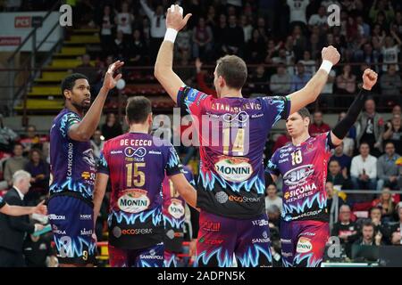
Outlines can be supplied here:
M358 239L358 227L351 220L350 207L345 204L339 208L339 222L333 224L331 236L339 237L340 244L344 245L346 253L351 256L351 245Z

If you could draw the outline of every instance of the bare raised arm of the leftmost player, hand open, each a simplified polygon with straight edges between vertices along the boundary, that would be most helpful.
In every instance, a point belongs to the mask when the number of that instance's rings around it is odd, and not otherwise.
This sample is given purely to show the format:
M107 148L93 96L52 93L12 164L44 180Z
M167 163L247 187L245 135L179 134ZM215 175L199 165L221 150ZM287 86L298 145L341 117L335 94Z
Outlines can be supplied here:
M121 74L113 77L114 72L120 69L124 64L122 61L115 61L109 66L105 73L104 85L97 94L95 101L89 108L87 114L82 118L80 123L74 124L69 128L69 137L74 141L88 142L92 134L95 133L102 115L102 109L106 101L106 96L111 89L114 88L117 81L121 78Z

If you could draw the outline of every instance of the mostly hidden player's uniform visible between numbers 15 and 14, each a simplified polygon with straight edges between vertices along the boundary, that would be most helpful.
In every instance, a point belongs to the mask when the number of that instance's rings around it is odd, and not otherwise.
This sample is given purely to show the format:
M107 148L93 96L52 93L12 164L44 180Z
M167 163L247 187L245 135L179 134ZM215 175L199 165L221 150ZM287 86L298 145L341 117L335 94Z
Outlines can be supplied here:
M188 167L183 167L188 183L196 186L194 176ZM163 180L163 224L164 224L164 266L177 267L183 252L184 217L186 202L175 191L169 177Z

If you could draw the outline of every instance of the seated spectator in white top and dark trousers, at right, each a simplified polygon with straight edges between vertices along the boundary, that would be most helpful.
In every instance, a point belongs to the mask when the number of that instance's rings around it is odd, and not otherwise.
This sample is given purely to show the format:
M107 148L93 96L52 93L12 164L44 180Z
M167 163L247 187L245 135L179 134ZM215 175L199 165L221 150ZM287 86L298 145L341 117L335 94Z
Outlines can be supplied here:
M356 190L375 190L377 186L377 159L370 155L370 146L363 142L360 155L352 159L350 175Z

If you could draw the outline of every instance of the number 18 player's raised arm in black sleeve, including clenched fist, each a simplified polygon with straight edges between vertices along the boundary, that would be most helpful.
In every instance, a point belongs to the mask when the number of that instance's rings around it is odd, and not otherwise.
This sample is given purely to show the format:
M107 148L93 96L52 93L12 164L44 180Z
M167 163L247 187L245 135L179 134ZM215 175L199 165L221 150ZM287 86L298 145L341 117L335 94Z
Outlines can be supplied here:
M332 144L339 145L348 134L349 129L356 123L356 119L364 107L364 102L368 94L370 94L370 90L372 90L373 85L377 82L377 78L377 73L372 69L364 70L362 89L357 94L355 101L350 105L345 118L342 118L331 131Z

